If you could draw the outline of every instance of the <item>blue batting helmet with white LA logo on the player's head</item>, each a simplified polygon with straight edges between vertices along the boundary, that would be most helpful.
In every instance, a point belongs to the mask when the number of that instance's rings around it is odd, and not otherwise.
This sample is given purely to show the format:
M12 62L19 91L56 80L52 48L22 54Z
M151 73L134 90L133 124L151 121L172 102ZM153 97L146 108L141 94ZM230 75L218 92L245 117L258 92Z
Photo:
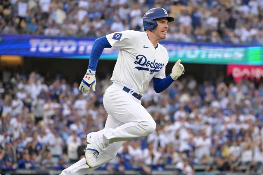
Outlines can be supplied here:
M168 22L172 22L174 20L173 17L168 16L167 11L164 8L158 7L148 10L143 16L144 30L154 30L157 27L157 22L155 21L155 19L163 17L167 17Z

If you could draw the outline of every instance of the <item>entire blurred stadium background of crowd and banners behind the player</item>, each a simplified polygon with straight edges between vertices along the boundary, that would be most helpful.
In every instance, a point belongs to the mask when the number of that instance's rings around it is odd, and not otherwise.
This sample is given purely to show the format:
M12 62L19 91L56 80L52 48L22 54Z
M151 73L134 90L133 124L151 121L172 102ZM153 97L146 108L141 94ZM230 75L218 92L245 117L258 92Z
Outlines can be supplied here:
M60 174L84 157L86 134L103 129L103 93L118 50L104 49L96 91L82 94L94 40L143 31L163 7L169 23L162 93L142 105L157 123L91 174L263 173L262 0L0 0L0 174Z

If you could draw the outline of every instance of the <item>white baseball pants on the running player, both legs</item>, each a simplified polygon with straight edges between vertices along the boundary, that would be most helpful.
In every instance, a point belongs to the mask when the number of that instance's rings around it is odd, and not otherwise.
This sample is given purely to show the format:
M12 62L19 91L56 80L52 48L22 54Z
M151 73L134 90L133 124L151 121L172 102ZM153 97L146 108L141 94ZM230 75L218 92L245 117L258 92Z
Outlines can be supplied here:
M134 91L127 93L122 90L123 87L123 84L113 82L105 91L103 105L109 114L105 128L91 133L91 143L99 151L97 166L90 169L83 158L63 170L61 175L87 174L112 160L124 141L148 136L155 130L153 118L141 105L141 101L131 95Z

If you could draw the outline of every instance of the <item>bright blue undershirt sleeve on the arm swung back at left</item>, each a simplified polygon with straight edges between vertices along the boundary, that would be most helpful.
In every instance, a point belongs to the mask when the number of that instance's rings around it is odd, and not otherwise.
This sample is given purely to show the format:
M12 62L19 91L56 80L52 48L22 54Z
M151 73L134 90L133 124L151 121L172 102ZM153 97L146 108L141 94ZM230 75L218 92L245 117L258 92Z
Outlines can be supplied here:
M111 48L106 36L98 38L94 41L89 57L89 69L96 71L98 59L101 57L104 48Z

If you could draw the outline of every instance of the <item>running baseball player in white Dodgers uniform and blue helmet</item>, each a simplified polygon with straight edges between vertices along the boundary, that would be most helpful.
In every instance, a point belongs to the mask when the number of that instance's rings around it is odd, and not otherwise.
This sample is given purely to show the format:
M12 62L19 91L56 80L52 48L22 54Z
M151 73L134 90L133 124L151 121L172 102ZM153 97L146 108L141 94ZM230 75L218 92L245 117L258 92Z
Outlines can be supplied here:
M87 174L112 160L124 141L148 136L156 127L155 121L141 105L142 94L153 80L157 93L184 74L184 66L178 60L172 72L165 77L168 63L167 50L158 43L165 39L168 22L174 18L163 8L153 8L143 17L146 32L126 30L108 34L95 40L91 50L89 67L79 90L95 91L96 66L104 48L119 49L111 77L112 84L105 91L103 105L108 112L105 128L87 135L85 158L61 172L61 175Z

